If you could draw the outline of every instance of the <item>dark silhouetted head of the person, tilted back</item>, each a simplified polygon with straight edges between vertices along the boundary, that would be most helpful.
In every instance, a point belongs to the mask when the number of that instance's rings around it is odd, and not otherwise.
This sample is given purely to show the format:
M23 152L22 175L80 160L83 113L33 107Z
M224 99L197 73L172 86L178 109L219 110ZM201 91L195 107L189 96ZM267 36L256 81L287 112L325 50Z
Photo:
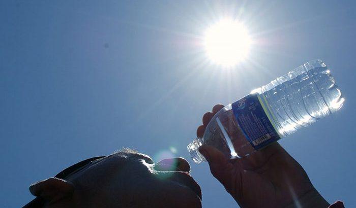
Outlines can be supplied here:
M40 201L37 204L44 207L201 207L200 187L189 176L190 166L183 158L155 164L149 156L125 149L79 166L82 167L71 169L71 173L64 170L64 177L31 185L29 190Z

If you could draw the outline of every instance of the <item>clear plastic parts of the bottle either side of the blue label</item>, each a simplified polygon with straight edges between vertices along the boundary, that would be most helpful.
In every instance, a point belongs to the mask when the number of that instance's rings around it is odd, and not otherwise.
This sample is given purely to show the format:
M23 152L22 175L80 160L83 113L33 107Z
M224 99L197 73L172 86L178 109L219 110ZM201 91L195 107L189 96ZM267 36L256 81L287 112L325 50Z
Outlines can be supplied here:
M279 137L338 111L345 101L321 60L309 61L251 93L259 96ZM198 152L201 144L217 148L229 159L241 158L256 151L236 121L231 104L212 118L202 138L196 138L188 146L197 163L204 161Z

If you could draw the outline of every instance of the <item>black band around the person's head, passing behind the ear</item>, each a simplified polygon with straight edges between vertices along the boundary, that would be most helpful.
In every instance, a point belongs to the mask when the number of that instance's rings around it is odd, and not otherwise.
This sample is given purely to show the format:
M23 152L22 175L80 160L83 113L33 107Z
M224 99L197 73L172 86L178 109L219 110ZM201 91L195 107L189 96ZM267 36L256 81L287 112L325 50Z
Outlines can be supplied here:
M74 165L62 170L60 173L55 175L55 178L66 179L69 176L75 174L76 172L79 172L80 170L84 169L85 167L90 166L93 161L95 161L97 159L104 158L104 157L105 156L92 157L92 158L83 160L81 162L78 162L78 163L76 163L76 164L74 164ZM45 200L42 197L37 196L32 201L30 201L26 205L22 206L22 208L42 207L44 205L44 203L45 203Z

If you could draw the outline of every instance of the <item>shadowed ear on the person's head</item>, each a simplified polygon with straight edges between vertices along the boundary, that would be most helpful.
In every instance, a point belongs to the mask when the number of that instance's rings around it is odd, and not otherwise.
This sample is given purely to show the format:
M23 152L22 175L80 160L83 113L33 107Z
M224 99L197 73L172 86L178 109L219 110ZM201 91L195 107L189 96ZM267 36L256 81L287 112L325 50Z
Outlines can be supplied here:
M32 184L29 186L29 191L34 196L40 196L47 201L54 202L72 196L74 185L63 179L49 178Z

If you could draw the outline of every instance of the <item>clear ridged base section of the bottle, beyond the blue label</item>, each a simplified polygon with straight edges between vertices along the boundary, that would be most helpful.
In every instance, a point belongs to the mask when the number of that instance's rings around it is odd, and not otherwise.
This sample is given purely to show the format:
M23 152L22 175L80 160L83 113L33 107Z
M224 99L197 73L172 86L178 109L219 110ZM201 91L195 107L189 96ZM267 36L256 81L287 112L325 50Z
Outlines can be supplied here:
M336 112L344 103L327 66L317 61L307 62L262 87L260 96L281 136Z

